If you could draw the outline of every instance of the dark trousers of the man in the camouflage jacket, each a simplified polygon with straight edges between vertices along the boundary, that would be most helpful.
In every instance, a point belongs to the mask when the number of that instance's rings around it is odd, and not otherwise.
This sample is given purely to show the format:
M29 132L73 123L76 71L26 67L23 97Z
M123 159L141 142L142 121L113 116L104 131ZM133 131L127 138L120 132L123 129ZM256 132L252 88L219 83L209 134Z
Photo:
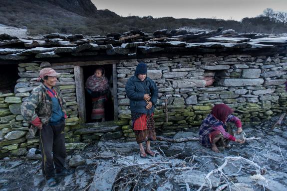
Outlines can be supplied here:
M42 173L45 179L53 177L54 165L57 172L65 169L65 122L43 125L39 132L42 155ZM53 153L53 155L52 155Z

